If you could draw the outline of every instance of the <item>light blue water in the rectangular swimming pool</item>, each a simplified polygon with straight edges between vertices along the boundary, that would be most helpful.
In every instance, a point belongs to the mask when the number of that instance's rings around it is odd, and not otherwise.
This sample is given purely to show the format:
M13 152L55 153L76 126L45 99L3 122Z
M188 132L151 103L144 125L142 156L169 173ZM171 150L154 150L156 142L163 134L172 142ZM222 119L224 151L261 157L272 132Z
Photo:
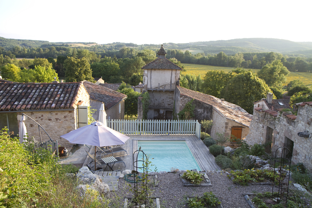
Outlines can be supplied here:
M150 161L154 166L150 169L154 171L170 171L171 168L179 170L197 169L201 171L186 141L138 141L138 149L146 155L151 155ZM139 157L138 157L139 158Z

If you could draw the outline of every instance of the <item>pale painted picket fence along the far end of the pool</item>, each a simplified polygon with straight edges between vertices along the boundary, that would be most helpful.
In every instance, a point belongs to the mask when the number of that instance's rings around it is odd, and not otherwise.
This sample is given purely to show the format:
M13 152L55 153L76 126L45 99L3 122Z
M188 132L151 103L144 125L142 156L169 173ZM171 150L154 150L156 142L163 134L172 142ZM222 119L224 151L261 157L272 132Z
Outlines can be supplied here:
M195 134L200 138L201 124L196 120L106 120L107 126L123 134Z

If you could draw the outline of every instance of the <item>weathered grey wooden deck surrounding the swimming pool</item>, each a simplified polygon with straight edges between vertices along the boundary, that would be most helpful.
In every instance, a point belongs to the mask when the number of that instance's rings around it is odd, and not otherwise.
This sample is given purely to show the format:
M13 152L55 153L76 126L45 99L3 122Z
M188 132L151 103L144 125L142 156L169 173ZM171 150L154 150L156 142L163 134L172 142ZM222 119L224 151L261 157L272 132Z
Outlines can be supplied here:
M193 156L195 157L199 167L203 170L221 170L221 168L216 164L214 156L209 152L207 146L202 142L202 140L198 139L195 135L189 134L172 134L172 135L127 135L130 138L126 141L124 145L121 145L128 154L124 151L114 153L114 157L121 157L121 159L125 162L126 167L123 163L118 163L113 166L113 170L133 170L133 152L138 150L138 140L164 140L164 141L186 141L188 147L190 148ZM90 149L90 154L94 155L95 147L92 146ZM111 156L111 154L109 155ZM90 157L87 157L83 166L87 165L90 162ZM105 171L108 168L106 168Z

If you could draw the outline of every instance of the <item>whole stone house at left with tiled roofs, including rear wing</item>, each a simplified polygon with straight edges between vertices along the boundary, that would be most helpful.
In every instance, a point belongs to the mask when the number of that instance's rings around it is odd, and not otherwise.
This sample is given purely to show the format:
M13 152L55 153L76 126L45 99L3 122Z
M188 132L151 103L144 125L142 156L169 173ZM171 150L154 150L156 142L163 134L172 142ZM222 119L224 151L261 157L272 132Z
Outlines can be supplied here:
M106 102L108 115L124 116L126 95L91 82L17 83L0 82L0 128L7 126L17 136L22 113L38 122L52 140L68 150L73 144L60 136L87 125L86 107L90 102ZM120 104L120 106L119 106ZM117 109L117 110L116 110ZM115 115L117 112L117 115ZM98 116L98 115L97 115ZM116 117L116 118L119 118ZM28 136L40 141L38 125L26 117ZM41 130L42 141L49 137Z

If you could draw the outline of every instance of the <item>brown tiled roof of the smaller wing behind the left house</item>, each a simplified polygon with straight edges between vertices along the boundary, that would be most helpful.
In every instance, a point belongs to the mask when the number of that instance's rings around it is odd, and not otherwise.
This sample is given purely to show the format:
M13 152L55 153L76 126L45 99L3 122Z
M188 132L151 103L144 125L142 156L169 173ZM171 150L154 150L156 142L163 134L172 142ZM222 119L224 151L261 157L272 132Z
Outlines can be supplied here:
M105 109L109 109L127 97L120 92L94 84L92 82L83 81L83 85L90 95L90 99L104 102Z

